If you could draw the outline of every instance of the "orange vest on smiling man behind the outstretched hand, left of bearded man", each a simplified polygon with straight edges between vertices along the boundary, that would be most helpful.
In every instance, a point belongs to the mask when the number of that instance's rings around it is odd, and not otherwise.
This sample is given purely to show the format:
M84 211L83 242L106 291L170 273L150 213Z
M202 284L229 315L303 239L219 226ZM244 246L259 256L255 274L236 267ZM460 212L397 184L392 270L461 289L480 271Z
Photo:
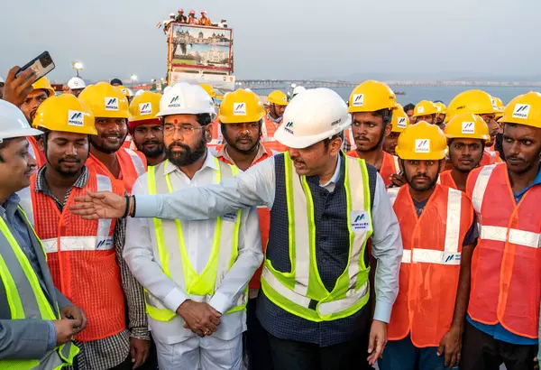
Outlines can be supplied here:
M90 154L87 159L87 167L99 174L109 176L111 179L121 180L124 183L124 189L131 194L135 180L147 171L146 158L143 153L126 148L120 148L115 155L120 164L120 176L118 179L115 179L113 173L93 154Z

